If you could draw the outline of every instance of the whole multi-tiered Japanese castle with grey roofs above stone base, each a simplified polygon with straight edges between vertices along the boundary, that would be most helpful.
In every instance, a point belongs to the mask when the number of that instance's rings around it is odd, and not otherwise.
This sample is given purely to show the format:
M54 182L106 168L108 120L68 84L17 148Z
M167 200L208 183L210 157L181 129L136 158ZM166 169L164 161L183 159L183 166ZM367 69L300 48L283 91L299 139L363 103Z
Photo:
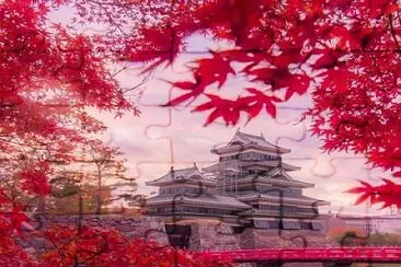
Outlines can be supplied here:
M289 149L237 130L228 144L213 149L219 162L198 169L174 170L148 182L159 195L146 201L150 216L161 216L167 225L218 221L233 229L321 231L318 207L326 201L306 197L313 184L294 179L300 170L284 163Z

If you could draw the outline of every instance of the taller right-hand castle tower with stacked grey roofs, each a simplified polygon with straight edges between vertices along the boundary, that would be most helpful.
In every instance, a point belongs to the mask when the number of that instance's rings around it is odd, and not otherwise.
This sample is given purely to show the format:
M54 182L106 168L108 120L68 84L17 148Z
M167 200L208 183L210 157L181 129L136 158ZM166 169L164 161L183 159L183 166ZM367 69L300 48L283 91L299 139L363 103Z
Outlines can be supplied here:
M215 148L219 162L205 172L218 177L220 194L236 197L252 208L239 212L251 228L322 230L318 207L326 201L306 197L302 189L313 184L297 181L289 172L300 170L283 162L289 149L268 142L263 135L237 130L226 146Z

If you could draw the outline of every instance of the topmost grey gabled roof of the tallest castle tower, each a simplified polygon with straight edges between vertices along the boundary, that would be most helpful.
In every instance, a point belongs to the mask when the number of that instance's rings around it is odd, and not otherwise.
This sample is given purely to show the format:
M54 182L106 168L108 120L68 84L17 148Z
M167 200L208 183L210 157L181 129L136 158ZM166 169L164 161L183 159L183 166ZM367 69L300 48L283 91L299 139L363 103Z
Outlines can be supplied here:
M221 154L225 152L231 152L237 150L243 150L245 148L255 148L260 150L265 150L270 152L274 152L277 154L289 153L289 149L280 148L268 142L264 136L253 136L249 134L241 132L239 129L236 131L236 135L231 139L231 141L220 148L213 149L211 152L216 154Z

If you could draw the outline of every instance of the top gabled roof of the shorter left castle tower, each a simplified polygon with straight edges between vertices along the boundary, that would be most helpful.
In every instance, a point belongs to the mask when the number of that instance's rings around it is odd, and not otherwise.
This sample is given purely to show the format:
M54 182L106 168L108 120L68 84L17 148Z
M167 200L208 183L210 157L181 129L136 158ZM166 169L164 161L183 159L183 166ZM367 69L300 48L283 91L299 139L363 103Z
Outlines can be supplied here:
M171 184L196 184L196 185L216 185L214 179L207 178L199 169L194 165L192 167L174 170L173 167L170 172L162 177L146 182L146 185L150 186L162 186L162 185L171 185Z

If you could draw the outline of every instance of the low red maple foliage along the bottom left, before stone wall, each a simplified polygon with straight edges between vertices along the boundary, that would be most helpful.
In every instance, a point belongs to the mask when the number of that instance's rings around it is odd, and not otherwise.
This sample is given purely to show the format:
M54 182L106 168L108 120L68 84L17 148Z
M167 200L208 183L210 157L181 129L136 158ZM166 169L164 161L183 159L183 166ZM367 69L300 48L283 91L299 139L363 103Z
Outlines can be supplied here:
M54 249L43 255L41 266L231 266L160 246L154 241L127 240L116 231L100 228L57 227L46 235Z

